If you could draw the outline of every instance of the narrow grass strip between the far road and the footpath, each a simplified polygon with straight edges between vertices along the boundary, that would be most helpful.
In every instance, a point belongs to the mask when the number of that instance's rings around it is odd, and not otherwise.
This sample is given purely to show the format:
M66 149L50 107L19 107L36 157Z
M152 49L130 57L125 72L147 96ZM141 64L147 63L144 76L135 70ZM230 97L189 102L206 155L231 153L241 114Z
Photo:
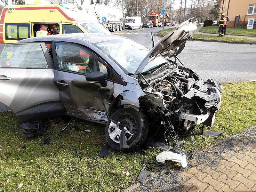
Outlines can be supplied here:
M240 37L218 37L212 35L201 35L201 34L194 34L193 39L200 39L200 40L214 40L214 41L232 41L232 42L241 42L241 43L256 43L255 40L240 38Z

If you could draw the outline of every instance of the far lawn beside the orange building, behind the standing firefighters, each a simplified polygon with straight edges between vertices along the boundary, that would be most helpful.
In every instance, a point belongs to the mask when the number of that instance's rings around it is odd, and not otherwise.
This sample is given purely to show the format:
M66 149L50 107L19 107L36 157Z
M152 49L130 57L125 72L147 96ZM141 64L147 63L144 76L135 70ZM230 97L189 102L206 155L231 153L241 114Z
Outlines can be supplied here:
M216 33L218 34L218 27L217 26L209 26L203 27L200 29L200 32L204 33ZM241 36L256 36L256 29L244 29L244 28L234 28L234 27L227 27L226 31L227 35L241 35Z

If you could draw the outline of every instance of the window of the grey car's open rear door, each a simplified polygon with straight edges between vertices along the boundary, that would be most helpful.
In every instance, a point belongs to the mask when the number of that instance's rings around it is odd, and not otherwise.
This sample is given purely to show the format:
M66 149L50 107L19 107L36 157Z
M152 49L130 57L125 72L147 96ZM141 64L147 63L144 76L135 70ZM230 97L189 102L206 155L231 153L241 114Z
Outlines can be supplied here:
M0 67L48 68L40 44L1 45L0 51Z

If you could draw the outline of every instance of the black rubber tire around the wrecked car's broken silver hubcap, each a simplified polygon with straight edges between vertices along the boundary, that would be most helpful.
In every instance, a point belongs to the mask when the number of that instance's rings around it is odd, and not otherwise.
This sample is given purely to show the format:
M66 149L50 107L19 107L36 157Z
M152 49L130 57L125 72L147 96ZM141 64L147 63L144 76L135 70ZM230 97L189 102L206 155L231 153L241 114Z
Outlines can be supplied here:
M110 138L108 133L109 124L111 123L111 120L125 122L124 121L125 119L122 119L122 118L127 115L131 116L134 119L136 124L136 130L133 133L132 138L127 141L129 148L122 149L122 151L134 151L136 149L139 149L148 136L148 120L142 112L137 111L133 108L117 109L110 116L110 118L108 119L108 123L106 124L106 127L105 127L105 138L108 142L108 145L113 149L120 150L120 143L117 143ZM128 127L128 126L127 126L127 129L131 130L132 127Z

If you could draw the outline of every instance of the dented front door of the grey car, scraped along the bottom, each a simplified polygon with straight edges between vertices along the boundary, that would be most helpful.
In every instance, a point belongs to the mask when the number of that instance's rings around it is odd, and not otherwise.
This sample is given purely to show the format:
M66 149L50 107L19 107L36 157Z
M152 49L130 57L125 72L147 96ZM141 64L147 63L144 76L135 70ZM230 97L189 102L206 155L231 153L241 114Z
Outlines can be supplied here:
M66 42L53 42L54 82L60 90L60 101L66 115L105 123L108 100L114 84L111 68L91 50ZM86 81L86 75L104 73L103 84Z

